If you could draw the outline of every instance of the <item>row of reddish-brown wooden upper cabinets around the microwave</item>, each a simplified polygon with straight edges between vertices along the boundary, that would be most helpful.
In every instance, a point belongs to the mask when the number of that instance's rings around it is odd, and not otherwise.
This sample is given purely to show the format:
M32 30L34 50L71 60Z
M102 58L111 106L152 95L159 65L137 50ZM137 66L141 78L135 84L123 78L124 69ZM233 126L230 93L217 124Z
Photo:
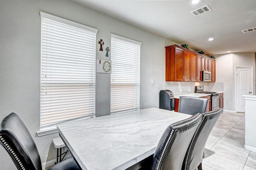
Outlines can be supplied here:
M178 45L171 45L165 49L166 81L201 82L202 70L206 70L212 72L212 82L215 82L215 60Z

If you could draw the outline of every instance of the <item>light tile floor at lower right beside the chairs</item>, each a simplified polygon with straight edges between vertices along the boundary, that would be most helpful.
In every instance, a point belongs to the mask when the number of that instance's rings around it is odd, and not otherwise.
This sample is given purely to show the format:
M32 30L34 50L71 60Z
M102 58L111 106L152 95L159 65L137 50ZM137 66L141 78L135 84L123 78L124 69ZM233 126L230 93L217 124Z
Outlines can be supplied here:
M244 113L224 111L204 153L203 170L256 170L256 152L244 149Z

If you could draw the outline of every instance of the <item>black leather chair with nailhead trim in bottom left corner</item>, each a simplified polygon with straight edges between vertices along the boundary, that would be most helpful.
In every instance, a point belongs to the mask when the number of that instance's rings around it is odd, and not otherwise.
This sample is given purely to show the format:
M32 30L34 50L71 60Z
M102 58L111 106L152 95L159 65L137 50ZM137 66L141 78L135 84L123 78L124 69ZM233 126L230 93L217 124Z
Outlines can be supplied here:
M27 127L15 113L0 121L0 145L8 152L18 170L42 170L36 144ZM48 170L80 170L73 158Z

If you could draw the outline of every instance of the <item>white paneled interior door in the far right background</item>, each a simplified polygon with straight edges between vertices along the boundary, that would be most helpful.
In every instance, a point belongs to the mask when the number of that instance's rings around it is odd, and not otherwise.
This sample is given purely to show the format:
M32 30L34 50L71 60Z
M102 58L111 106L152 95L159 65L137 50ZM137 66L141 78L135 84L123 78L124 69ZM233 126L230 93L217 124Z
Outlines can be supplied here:
M253 94L252 92L252 67L236 67L236 111L244 112L243 94Z

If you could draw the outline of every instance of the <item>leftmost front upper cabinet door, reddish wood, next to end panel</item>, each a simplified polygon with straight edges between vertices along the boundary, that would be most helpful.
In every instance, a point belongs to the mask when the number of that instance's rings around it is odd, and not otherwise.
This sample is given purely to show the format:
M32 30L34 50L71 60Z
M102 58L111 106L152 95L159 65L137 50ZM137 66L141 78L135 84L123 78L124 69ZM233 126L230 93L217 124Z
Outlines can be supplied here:
M179 48L175 48L175 81L184 81L184 72L183 72L183 65L184 65L184 51Z

